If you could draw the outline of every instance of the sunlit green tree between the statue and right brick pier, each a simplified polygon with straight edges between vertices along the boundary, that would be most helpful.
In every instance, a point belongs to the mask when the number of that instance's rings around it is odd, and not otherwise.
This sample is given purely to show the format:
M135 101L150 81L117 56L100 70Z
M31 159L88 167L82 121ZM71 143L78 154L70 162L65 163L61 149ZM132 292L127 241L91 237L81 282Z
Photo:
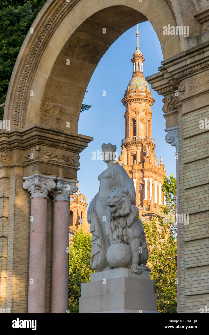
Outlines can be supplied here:
M176 243L176 179L164 177L162 191L166 205L160 206L164 218L160 219L162 232L157 230L156 221L144 223L146 242L151 263L150 278L155 280L157 309L161 313L177 313L177 243ZM171 218L171 220L169 220Z

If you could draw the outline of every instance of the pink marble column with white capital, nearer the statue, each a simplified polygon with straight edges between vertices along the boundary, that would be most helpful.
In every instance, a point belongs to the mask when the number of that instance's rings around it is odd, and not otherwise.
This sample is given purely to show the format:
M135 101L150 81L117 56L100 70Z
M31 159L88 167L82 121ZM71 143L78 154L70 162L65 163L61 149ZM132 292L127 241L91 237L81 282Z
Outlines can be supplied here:
M74 183L74 184L72 184ZM53 254L51 313L66 313L69 269L69 197L77 191L77 181L57 178L53 192Z

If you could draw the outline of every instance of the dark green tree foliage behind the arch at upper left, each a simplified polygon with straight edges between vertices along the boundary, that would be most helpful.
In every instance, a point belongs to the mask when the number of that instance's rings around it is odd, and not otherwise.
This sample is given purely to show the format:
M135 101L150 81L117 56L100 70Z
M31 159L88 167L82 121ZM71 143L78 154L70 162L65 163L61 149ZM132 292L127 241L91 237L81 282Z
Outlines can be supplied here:
M12 70L28 31L47 0L1 0L0 2L0 104L6 100ZM91 105L82 104L81 113ZM0 108L0 120L4 110Z

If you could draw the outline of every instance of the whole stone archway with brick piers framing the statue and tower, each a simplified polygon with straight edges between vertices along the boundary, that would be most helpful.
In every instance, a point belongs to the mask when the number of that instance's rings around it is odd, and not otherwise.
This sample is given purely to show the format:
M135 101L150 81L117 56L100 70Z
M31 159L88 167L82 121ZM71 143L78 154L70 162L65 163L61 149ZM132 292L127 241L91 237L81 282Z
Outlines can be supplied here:
M46 239L46 280L43 275L41 293L45 309L29 304L30 312L64 313L66 307L57 304L58 309L53 308L59 293L53 288L56 285L51 284L51 263L59 261L52 255L52 231L58 235L60 231L53 218L60 215L60 208L69 206L69 195L77 182L79 153L93 140L77 134L84 93L109 46L133 25L149 20L160 41L164 60L159 72L147 80L164 96L163 112L169 134L166 137L179 148L178 212L189 213L191 217L189 225L184 222L178 225L178 309L183 313L197 311L196 305L189 304L193 294L195 297L199 294L199 289L191 290L189 272L198 280L201 269L204 276L208 260L199 254L198 246L201 243L204 246L209 237L204 235L209 208L205 170L208 156L203 153L208 130L197 129L197 118L204 119L208 113L209 38L207 9L197 6L195 0L48 0L38 14L32 24L34 33L29 32L23 42L9 84L4 119L11 120L12 129L0 133L0 156L6 152L7 157L1 158L0 163L2 308L26 313L28 296L32 298L36 292L30 283L29 293L27 288L32 271L30 229L31 239L34 232L30 217L31 203L33 210L41 203L43 214L47 211L47 216L39 217ZM163 35L163 26L168 25L189 26L189 38ZM197 177L199 166L201 178ZM23 186L31 193L31 200L22 188L23 177ZM36 210L34 215L38 220ZM64 226L65 222L61 224ZM60 243L61 238L55 235L53 244ZM194 250L193 245L197 246L198 261L188 256L188 251ZM58 279L53 280L56 284ZM207 289L201 286L201 276L197 286L204 295L202 301L208 299ZM201 297L198 301L201 307Z

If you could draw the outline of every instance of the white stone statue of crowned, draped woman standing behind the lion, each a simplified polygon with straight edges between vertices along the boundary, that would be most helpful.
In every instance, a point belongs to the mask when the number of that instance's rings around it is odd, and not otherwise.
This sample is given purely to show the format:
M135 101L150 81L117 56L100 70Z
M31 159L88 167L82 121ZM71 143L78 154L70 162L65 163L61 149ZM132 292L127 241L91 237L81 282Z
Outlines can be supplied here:
M106 252L113 243L113 233L110 225L110 209L107 198L110 191L122 186L129 190L130 201L136 204L136 191L133 181L127 172L115 160L116 145L102 144L102 156L107 169L98 177L100 181L99 192L89 205L87 221L90 223L92 233L91 268L96 272L108 267Z

